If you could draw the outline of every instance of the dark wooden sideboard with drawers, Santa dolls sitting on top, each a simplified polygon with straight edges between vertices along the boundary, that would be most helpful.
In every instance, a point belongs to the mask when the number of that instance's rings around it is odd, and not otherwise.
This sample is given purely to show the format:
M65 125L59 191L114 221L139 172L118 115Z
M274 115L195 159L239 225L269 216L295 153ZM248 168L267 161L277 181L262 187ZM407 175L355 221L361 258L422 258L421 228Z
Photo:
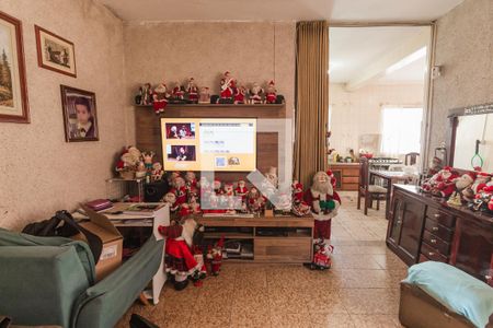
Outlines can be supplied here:
M387 246L406 265L434 260L493 284L493 216L394 185Z

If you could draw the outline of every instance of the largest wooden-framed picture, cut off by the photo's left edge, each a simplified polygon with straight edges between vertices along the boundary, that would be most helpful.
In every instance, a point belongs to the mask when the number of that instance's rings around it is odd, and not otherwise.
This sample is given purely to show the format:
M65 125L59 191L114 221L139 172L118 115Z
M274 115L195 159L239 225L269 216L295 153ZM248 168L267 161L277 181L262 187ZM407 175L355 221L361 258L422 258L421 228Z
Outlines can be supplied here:
M1 11L0 121L30 122L22 23Z

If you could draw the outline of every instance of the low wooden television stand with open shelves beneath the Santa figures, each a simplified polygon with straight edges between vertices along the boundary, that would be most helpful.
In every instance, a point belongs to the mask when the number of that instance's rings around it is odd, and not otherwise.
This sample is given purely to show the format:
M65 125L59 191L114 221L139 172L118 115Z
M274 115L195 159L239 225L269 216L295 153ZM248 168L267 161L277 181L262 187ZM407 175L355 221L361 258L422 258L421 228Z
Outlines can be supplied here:
M253 244L253 259L228 259L241 262L301 263L311 260L313 218L289 216L196 216L205 226L205 239L228 239Z

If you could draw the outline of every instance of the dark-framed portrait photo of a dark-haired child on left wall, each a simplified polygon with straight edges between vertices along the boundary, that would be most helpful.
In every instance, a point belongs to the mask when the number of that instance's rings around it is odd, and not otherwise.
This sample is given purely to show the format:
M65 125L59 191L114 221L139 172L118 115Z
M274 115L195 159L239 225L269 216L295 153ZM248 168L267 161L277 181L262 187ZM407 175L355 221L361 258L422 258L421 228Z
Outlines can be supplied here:
M60 90L66 141L100 140L95 94L67 85L60 85Z

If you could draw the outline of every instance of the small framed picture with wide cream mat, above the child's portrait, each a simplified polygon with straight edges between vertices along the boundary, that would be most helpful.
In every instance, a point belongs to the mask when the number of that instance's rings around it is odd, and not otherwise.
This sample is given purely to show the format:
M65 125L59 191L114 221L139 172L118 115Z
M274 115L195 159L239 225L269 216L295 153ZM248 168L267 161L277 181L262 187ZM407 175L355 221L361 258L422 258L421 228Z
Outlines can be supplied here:
M39 67L77 78L73 44L37 25L34 31Z

